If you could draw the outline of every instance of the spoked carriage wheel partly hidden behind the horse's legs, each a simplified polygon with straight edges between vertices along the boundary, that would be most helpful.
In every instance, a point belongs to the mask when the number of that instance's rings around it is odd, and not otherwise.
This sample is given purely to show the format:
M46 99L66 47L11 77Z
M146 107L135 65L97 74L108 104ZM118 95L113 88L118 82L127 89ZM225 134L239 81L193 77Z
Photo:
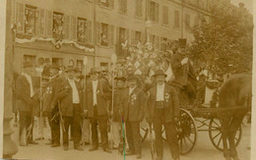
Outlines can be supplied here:
M219 119L212 119L209 123L209 136L214 146L217 149L223 151L224 144L223 144L223 134L221 133L221 127L222 127L222 124ZM242 135L242 129L241 129L241 126L239 126L234 137L235 146L239 144L242 137L241 135Z

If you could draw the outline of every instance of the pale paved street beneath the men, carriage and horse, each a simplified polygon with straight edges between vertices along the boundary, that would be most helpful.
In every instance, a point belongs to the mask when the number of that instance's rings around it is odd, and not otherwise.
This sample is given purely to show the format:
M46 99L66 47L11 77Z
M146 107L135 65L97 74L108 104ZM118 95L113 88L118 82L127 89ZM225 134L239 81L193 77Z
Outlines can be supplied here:
M250 159L250 129L251 126L244 123L242 126L242 140L237 148L238 155L241 160ZM17 128L15 128L17 131ZM44 129L45 132L47 129ZM17 133L14 134L14 137ZM16 138L17 139L17 138ZM13 158L19 159L54 159L54 160L82 160L82 159L94 159L94 160L122 160L124 157L118 155L117 150L113 150L113 153L105 153L99 148L94 152L88 151L90 145L86 145L84 151L77 151L73 149L72 143L68 151L64 151L62 147L51 148L45 145L46 139L40 140L38 145L19 146L19 152ZM142 160L150 160L150 140L149 138L143 143ZM125 160L136 159L135 156L126 156ZM164 143L164 160L170 160L170 153L166 143ZM217 150L210 141L208 133L198 133L198 140L195 148L191 153L181 156L181 160L222 160L224 159L223 153Z

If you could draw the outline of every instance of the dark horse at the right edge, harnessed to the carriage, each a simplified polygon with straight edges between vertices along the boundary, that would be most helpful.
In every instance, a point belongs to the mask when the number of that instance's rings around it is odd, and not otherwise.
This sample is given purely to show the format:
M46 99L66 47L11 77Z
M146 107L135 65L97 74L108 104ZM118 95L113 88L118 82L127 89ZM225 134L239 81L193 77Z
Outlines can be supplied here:
M252 75L237 74L224 81L220 88L219 107L223 112L219 114L222 124L225 160L239 160L234 143L235 133L251 108ZM229 148L227 147L227 140Z

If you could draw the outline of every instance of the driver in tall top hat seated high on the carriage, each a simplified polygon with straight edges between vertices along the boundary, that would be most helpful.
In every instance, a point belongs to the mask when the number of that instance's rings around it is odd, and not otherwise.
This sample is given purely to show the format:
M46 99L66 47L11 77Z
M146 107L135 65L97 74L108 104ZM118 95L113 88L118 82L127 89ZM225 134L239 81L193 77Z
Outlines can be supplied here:
M171 68L175 77L174 82L184 86L190 99L195 99L197 76L186 55L186 39L184 38L179 39L178 53L174 54L171 58ZM177 91L179 94L179 90Z

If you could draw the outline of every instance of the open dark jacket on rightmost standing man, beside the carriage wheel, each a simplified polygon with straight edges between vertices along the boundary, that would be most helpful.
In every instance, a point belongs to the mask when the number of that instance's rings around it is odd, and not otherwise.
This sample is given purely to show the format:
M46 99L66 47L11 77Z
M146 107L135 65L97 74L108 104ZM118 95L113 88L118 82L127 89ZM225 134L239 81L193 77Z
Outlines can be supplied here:
M173 122L174 117L179 117L179 100L174 87L164 86L164 120L166 123ZM146 118L153 119L155 117L155 108L157 100L157 85L151 88L150 97L148 100L148 110L146 110Z

